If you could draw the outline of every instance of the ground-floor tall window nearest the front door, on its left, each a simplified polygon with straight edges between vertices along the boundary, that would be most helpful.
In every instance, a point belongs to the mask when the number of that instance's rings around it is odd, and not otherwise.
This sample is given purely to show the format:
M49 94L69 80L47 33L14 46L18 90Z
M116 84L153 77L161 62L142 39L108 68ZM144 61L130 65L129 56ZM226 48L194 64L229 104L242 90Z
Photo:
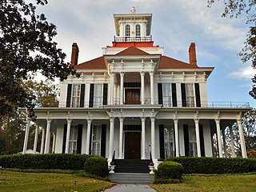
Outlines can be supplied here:
M101 155L101 138L102 138L102 126L94 125L92 130L91 139L91 154L95 156Z

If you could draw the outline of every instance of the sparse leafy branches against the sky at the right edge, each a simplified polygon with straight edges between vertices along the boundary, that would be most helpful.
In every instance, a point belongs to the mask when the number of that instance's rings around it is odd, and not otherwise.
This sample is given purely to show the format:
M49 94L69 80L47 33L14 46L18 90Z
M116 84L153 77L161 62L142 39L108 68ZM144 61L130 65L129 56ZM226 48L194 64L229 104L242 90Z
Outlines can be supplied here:
M216 0L207 0L208 5ZM218 0L219 1L219 0ZM246 17L246 24L250 25L245 46L240 52L242 62L251 62L251 66L256 69L256 1L255 0L223 0L225 9L222 17ZM249 94L256 99L256 74L252 78L254 83Z

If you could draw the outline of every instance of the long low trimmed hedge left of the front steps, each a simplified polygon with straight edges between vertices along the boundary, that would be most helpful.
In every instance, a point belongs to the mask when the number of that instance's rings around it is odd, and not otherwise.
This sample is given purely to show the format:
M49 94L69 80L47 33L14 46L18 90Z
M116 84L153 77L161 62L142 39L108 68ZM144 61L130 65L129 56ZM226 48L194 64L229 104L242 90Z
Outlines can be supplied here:
M0 156L0 166L16 169L83 170L87 154L14 154Z

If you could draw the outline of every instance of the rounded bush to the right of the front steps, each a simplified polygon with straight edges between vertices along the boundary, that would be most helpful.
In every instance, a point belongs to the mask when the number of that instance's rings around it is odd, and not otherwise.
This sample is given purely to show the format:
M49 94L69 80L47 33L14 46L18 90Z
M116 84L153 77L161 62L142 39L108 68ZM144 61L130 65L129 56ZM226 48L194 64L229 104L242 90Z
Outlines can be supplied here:
M155 172L155 178L177 178L182 179L183 167L178 162L162 162L158 166L158 170Z

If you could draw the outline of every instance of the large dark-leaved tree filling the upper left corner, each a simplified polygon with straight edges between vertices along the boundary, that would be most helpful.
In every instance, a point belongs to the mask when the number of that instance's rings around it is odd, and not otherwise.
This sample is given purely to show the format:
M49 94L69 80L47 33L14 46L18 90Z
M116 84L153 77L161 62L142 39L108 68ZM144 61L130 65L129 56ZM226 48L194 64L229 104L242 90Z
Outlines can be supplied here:
M47 4L47 0L34 1L38 6ZM0 118L18 107L33 111L34 96L22 87L31 72L61 81L75 74L53 40L56 26L35 10L25 0L0 0Z

